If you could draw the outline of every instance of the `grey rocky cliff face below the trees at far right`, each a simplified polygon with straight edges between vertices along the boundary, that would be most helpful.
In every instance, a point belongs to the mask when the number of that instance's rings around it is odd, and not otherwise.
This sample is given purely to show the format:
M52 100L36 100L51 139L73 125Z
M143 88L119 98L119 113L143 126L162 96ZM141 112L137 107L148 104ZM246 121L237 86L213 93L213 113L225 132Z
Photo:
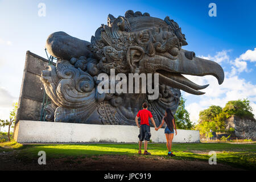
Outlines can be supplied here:
M256 140L255 119L232 116L226 121L226 129L233 127L238 138Z

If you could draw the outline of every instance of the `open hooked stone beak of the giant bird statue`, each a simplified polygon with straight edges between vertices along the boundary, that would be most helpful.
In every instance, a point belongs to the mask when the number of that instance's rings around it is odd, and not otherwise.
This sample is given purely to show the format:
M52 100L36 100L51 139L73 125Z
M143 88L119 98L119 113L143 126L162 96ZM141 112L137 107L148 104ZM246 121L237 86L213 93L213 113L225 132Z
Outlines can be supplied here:
M170 59L163 56L155 56L154 59L155 60L152 60L152 62L153 65L155 65L155 72L159 73L160 83L184 90L191 94L204 94L204 92L199 90L207 88L209 85L197 85L183 75L212 75L217 78L218 84L222 84L224 81L224 71L219 64L214 61L196 57L194 52L181 49L177 59Z

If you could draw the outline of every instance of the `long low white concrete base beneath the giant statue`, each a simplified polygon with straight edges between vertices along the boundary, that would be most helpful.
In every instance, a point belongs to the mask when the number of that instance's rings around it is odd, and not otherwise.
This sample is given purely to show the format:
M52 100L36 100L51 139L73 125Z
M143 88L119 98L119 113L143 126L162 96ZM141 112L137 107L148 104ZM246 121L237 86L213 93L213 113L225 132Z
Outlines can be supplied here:
M19 121L14 139L19 143L138 142L137 126ZM152 142L166 142L164 129L151 128ZM177 130L173 142L200 142L199 131Z

